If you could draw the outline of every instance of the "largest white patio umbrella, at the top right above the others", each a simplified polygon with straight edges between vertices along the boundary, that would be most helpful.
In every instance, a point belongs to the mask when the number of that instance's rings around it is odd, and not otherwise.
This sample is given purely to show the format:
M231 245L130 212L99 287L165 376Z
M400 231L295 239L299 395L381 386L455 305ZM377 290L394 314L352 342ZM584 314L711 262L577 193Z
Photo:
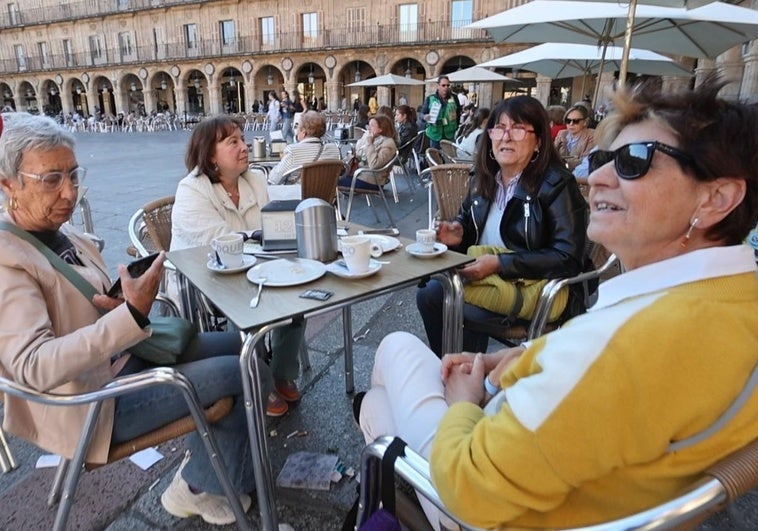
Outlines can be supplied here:
M681 0L678 0L681 1ZM621 43L628 6L614 2L534 0L479 20L497 42L554 42L607 47ZM716 57L758 37L758 11L711 2L697 9L637 5L632 35L638 48L688 57Z

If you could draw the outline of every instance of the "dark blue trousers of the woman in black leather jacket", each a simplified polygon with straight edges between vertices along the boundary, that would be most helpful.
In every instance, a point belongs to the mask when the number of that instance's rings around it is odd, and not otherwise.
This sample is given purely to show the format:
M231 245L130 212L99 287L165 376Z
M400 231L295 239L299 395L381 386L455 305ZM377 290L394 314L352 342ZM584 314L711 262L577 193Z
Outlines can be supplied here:
M424 321L426 337L429 340L429 348L432 352L442 357L442 316L445 311L443 302L445 293L442 284L437 280L430 280L426 286L416 292L416 307ZM463 318L470 321L484 321L494 317L502 317L497 313L485 310L473 304L463 304ZM489 344L489 336L478 332L463 329L463 350L466 352L486 352Z

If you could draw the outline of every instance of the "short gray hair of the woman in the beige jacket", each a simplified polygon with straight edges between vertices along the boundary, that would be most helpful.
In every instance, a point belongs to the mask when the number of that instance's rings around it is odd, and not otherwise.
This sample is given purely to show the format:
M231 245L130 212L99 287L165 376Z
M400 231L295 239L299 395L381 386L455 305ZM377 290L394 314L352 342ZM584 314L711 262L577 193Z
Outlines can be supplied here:
M21 160L28 151L50 151L65 146L73 151L74 136L47 116L25 112L3 113L0 136L0 179L18 175Z

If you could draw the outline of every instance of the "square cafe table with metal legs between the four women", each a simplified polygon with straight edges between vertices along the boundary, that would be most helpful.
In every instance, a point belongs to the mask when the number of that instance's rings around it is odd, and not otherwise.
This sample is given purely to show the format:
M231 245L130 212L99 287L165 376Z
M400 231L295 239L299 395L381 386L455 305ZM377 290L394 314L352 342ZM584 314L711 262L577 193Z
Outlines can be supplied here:
M360 227L353 225L351 233ZM410 240L400 238L405 245ZM345 387L353 391L352 323L350 306L380 295L418 284L434 277L442 282L445 291L443 316L443 349L446 352L460 351L463 330L463 285L456 269L470 262L471 258L447 251L430 259L418 259L404 249L385 253L382 260L389 264L374 275L362 279L345 280L326 273L307 284L291 287L266 287L257 308L249 302L257 285L249 282L244 273L217 274L207 268L210 246L171 251L168 259L176 267L180 285L202 292L234 325L245 332L240 352L242 386L245 395L248 434L255 471L255 483L263 529L278 529L274 480L268 458L266 441L265 401L262 397L258 365L253 356L256 343L277 327L287 325L294 319L308 318L330 310L342 309L343 341L345 350ZM259 258L259 261L262 260ZM334 292L327 301L304 299L300 294L306 289L319 288ZM187 291L186 289L184 290Z

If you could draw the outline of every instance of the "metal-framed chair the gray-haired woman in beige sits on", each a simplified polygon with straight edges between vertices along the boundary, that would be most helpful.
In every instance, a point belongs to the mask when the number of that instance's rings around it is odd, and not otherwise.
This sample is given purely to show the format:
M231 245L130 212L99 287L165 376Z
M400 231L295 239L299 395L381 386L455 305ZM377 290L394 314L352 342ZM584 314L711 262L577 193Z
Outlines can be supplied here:
M108 463L130 455L134 451L175 439L192 430L198 430L205 445L205 450L208 453L208 458L213 465L216 477L219 483L221 483L224 494L237 517L238 527L240 529L250 528L250 524L240 505L239 497L234 492L232 483L229 480L215 438L208 427L209 424L219 420L231 411L232 399L230 397L222 398L204 411L200 405L195 388L183 374L169 367L159 367L116 378L96 391L78 395L43 393L0 377L0 392L5 394L8 401L19 400L59 407L89 405L89 412L73 458L70 463L65 459L61 460L61 465L58 467L55 479L53 480L48 503L52 505L60 501L53 529L64 530L66 528L66 521L75 498L76 486L79 482L81 470L85 465L84 460L92 441L92 435L103 402L156 385L171 385L179 389L187 402L190 416L167 424L132 441L112 447L108 456ZM41 429L44 429L44 427ZM94 465L94 467L96 466L101 465ZM61 487L63 488L62 492Z

